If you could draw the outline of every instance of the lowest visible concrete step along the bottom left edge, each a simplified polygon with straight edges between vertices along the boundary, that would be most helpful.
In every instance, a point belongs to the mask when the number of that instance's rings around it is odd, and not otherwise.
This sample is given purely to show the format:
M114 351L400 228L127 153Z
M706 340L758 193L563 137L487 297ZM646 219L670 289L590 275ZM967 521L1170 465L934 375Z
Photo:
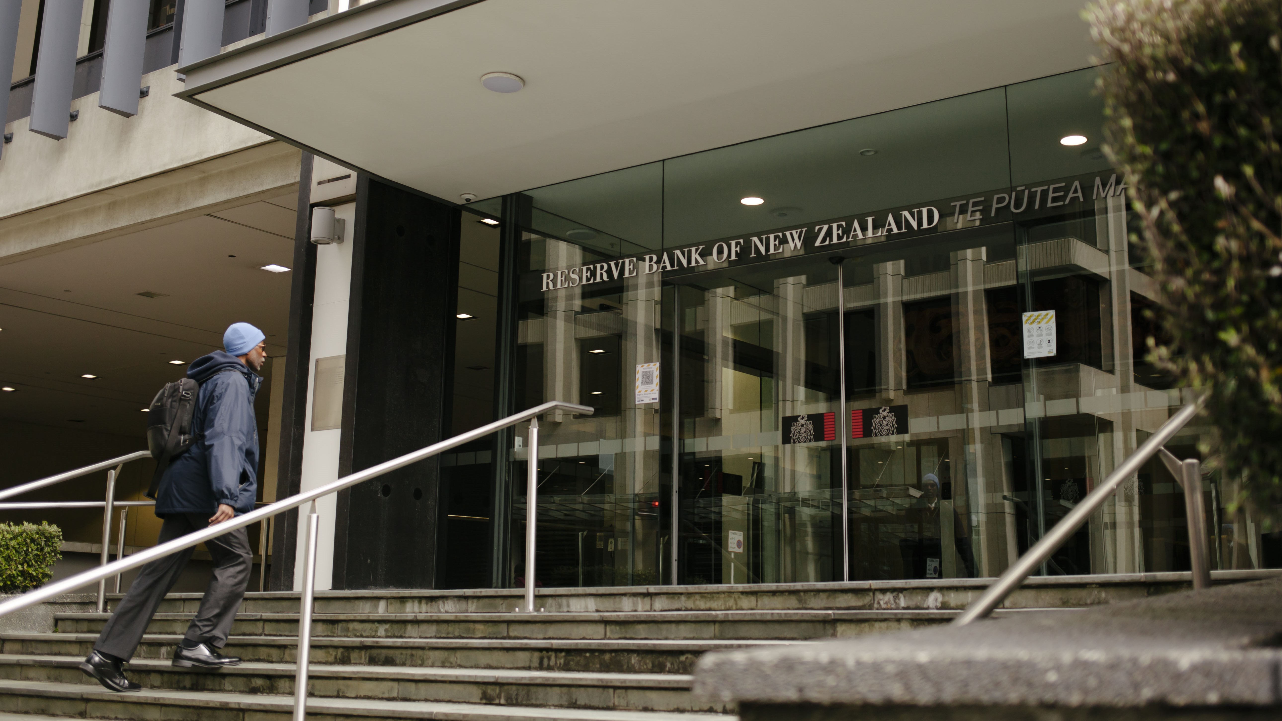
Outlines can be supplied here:
M113 693L100 685L0 680L0 712L81 718L164 718L165 721L287 721L294 708L288 695L191 690ZM431 701L367 698L310 698L314 720L431 718L447 721L732 721L717 713L603 711L531 706L488 706Z

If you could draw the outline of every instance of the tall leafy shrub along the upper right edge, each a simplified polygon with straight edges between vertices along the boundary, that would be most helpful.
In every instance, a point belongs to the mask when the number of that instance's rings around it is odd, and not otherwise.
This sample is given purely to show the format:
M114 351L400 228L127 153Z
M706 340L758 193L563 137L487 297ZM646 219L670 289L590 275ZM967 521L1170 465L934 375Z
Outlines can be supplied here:
M1206 393L1233 501L1282 502L1282 4L1104 0L1106 152L1172 336L1150 361Z

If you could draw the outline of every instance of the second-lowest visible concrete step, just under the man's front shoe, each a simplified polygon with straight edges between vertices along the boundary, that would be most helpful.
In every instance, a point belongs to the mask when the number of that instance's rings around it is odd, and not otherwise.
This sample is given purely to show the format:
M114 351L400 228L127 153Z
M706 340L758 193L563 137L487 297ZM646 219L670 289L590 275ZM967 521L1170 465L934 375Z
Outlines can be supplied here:
M79 656L0 656L0 679L97 685L78 668ZM169 661L135 660L128 676L151 690L294 694L292 663L245 662L222 670L177 668ZM329 666L309 668L308 693L324 698L496 703L623 711L723 712L719 702L694 706L685 674Z

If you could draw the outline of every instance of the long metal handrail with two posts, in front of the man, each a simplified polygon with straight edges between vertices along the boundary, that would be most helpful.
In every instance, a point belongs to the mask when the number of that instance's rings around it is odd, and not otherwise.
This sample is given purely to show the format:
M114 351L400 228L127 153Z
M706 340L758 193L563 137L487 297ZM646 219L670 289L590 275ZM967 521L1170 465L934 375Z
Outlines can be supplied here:
M306 555L304 556L304 565L303 565L303 599L299 608L299 651L297 651L299 662L297 662L297 671L294 679L294 718L295 721L303 721L306 717L308 663L310 662L309 657L312 649L312 604L315 598L317 538L319 534L319 517L320 517L317 514L317 505L315 505L317 499L328 496L331 493L337 493L338 490L351 488L353 485L367 482L372 478L378 478L386 473L391 473L394 470L405 467L410 464L422 461L423 458L436 456L438 453L449 451L450 448L468 443L469 441L483 438L496 430L508 428L509 425L515 425L526 420L533 420L533 423L531 424L531 444L529 444L529 457L527 464L529 465L531 469L535 469L538 465L538 442L537 442L538 421L536 419L544 414L553 411L592 415L594 409L588 406L579 406L577 403L567 403L563 401L549 401L540 406L535 406L533 409L522 411L515 415L510 415L505 419L496 420L487 425L482 425L481 428L469 430L467 433L460 433L454 438L447 438L445 441L441 441L440 443L433 443L431 446L419 448L418 451L410 453L405 453L404 456L399 456L390 461L383 461L363 471L356 471L354 474L345 475L338 480L327 483L319 488L313 488L312 490L304 490L303 493L297 493L283 501L277 501L268 506L263 506L262 508L236 516L218 525L213 525L206 529L188 533L187 535L176 538L168 543L162 543L160 546L154 546L151 548L138 551L132 556L128 556L126 558L118 558L110 563L99 566L97 569L85 571L82 574L76 574L74 576L63 579L56 583L51 583L49 585L44 585L35 590L28 590L27 593L17 598L12 598L9 601L5 601L4 603L0 603L0 616L13 613L14 611L21 611L29 606L35 606L36 603L41 603L44 601L47 601L56 595L62 595L71 590L76 590L77 588L81 588L82 585L92 581L99 581L100 584L105 584L108 576L128 571L129 569L137 569L138 566L146 565L151 561L155 561L156 558L163 558L165 556L169 556L171 553L191 548L192 546L204 543L213 538L218 538L228 531L233 531L236 529L256 524L263 519L276 516L278 514L297 508L299 506L310 502L312 507L308 511ZM531 475L531 482L529 482L531 485L528 487L528 493L533 494L537 492L537 484L533 480L537 474L532 473L529 475ZM531 501L533 499L535 496L531 496ZM529 506L529 508L533 508L536 503L527 502L527 506ZM527 524L532 529L533 511L527 511ZM535 579L533 530L527 529L526 539L528 544L528 547L526 548L526 610L533 611L533 593L535 593L533 592L533 579ZM106 544L104 543L104 547L105 546Z

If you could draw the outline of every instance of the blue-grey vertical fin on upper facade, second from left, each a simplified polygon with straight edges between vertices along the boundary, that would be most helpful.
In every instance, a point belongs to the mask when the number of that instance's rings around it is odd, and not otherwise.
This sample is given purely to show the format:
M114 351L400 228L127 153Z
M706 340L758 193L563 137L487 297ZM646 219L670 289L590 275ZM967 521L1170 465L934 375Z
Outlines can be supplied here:
M40 58L28 127L54 140L65 138L71 123L81 8L81 0L47 0L40 26Z

